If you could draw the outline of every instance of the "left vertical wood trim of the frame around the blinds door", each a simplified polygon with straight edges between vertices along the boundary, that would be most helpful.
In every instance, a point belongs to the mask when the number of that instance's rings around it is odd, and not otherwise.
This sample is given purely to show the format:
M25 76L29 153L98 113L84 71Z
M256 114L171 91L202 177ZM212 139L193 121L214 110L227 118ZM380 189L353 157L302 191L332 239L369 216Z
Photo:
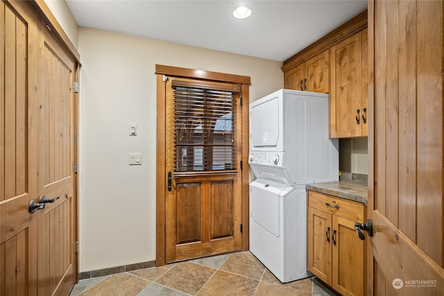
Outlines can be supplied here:
M156 159L160 159L156 165L155 190L156 190L156 227L155 227L155 265L163 266L166 263L166 238L165 227L167 225L167 215L165 213L165 184L167 176L165 176L165 162L167 152L165 151L165 82L162 75L157 75L157 124L156 124Z

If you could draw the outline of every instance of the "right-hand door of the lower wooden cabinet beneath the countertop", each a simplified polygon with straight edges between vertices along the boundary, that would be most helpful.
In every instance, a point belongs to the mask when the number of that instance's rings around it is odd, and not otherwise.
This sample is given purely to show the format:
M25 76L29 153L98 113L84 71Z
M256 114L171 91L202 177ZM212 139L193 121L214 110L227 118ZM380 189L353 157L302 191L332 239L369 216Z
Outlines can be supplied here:
M333 215L332 225L332 286L342 295L363 295L364 241L356 234L355 221Z

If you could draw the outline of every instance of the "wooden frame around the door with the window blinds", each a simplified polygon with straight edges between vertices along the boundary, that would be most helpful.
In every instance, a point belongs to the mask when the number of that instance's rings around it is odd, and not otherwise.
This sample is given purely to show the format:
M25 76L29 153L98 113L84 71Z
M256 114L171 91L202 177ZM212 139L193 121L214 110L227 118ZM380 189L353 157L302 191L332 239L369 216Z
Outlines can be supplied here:
M157 124L156 124L156 159L160 162L156 164L156 266L162 266L166 263L166 206L165 206L165 192L167 184L167 171L164 159L167 155L166 147L166 118L165 118L165 83L164 76L174 76L180 78L194 78L198 80L211 80L216 82L233 82L241 84L242 105L242 134L245 139L242 139L241 155L239 155L239 161L243 162L244 168L241 170L241 223L243 225L242 232L242 250L249 249L249 234L248 234L248 184L250 183L250 173L248 169L248 104L249 104L249 87L250 77L239 76L227 73L217 73L212 71L203 71L198 69L186 69L180 67L171 67L161 64L155 65L155 74L157 76L156 88L157 88Z

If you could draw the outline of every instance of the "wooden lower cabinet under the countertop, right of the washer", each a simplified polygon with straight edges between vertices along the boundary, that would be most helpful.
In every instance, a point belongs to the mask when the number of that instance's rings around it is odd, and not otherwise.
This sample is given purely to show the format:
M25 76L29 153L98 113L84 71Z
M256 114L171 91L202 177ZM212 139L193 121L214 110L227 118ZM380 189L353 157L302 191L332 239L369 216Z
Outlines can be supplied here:
M364 204L308 191L307 269L342 295L364 295Z

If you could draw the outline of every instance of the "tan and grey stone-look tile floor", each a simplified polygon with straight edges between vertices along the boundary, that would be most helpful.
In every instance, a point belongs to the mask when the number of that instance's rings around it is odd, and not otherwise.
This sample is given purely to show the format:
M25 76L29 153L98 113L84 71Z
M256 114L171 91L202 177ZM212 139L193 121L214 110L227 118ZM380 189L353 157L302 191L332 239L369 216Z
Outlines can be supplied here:
M250 252L83 279L70 296L334 295L316 278L282 284Z

